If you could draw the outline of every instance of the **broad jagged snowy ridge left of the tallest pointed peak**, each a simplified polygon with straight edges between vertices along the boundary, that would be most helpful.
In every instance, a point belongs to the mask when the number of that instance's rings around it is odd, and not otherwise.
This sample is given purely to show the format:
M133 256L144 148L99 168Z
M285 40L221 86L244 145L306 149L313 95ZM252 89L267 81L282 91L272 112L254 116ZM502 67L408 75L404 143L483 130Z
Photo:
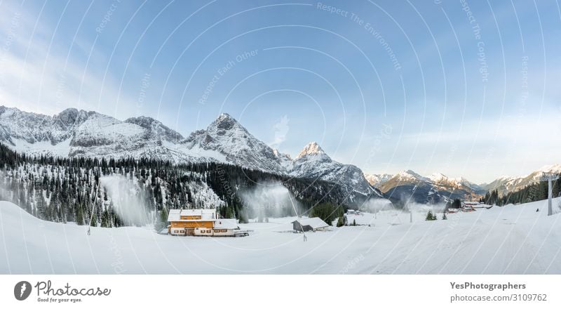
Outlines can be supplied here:
M29 155L200 160L168 147L177 139L183 138L149 117L120 121L74 108L46 116L0 107L0 141Z

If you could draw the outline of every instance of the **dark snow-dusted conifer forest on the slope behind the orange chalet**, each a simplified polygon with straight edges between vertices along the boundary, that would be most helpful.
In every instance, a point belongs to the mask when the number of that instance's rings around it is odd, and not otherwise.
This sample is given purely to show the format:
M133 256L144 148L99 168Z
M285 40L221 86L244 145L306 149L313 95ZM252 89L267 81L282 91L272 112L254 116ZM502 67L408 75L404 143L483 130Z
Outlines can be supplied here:
M107 178L119 181L104 183ZM28 157L0 144L0 199L47 221L78 225L91 222L107 228L145 224L164 228L169 209L216 208L222 218L245 222L262 214L246 206L240 193L259 183L282 183L301 213L318 203L349 206L339 185L323 180L290 178L220 163ZM109 188L115 186L118 188ZM360 198L367 197L353 197L358 202ZM293 216L293 211L287 208L277 214ZM130 212L135 213L126 216Z

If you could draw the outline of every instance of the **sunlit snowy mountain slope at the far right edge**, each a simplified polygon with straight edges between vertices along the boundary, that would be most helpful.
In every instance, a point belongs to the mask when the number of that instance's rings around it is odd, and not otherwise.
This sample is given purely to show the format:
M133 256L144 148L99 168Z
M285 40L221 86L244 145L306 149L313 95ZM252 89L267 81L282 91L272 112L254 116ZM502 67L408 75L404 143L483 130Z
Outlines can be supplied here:
M507 192L513 192L516 190L520 190L527 185L531 185L532 183L539 182L539 178L541 177L542 173L561 173L561 164L552 164L542 166L541 169L536 171L532 171L525 176L520 177L510 177L510 176L501 176L496 178L491 183L482 184L481 187L484 190L498 190L499 195L503 195Z

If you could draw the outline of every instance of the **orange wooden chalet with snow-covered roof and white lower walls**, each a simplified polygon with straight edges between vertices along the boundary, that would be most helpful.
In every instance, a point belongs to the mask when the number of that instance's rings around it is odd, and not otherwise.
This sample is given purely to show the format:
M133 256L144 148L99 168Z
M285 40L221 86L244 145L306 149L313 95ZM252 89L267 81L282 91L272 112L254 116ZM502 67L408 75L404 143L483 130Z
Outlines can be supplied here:
M236 219L218 219L216 209L170 209L168 233L177 236L234 236Z

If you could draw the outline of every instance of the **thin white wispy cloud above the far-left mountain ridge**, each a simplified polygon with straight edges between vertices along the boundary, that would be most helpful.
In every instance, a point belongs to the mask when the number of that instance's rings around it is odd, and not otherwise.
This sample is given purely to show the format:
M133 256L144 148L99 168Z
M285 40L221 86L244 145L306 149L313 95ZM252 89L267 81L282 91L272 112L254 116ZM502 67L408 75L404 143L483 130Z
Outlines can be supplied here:
M78 38L60 44L54 38L60 33L43 23L35 27L36 20L18 6L6 8L2 15L8 27L0 28L0 37L9 44L4 44L0 58L0 104L44 114L68 107L114 111L109 107L117 103L118 83L111 74L102 83L100 64L107 59L93 42ZM134 105L128 93L121 93L119 101Z

